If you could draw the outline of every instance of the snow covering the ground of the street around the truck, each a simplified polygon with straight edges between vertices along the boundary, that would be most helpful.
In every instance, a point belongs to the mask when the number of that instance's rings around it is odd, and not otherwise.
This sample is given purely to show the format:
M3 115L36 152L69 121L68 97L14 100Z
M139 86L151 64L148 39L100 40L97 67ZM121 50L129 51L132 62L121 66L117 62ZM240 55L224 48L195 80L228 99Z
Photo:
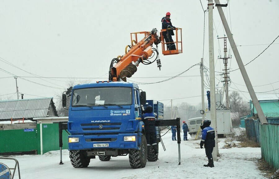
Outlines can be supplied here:
M164 133L164 132L162 132ZM181 133L183 139L183 134ZM148 162L145 168L133 169L128 156L112 157L110 161L100 161L98 157L91 159L87 168L73 168L69 159L69 151L62 151L63 165L60 163L60 151L51 151L44 155L11 156L19 161L21 178L64 179L64 178L266 178L255 165L260 159L260 148L222 149L225 138L220 139L218 162L215 167L203 167L207 164L204 148L199 146L200 139L181 141L181 164L178 165L178 144L171 140L169 131L162 137L166 151L159 143L159 159ZM0 159L8 167L14 167L13 161ZM11 170L13 172L13 170ZM18 178L18 173L15 173Z

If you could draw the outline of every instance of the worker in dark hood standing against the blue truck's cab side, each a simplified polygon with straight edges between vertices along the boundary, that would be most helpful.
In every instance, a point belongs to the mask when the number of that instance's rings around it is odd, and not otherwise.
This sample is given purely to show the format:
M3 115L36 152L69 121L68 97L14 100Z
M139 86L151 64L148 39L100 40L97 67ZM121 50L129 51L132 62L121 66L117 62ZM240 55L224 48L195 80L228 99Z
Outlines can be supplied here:
M141 116L141 120L144 122L145 136L147 142L147 152L150 152L150 146L154 150L154 154L158 153L158 146L155 134L155 115L153 114L153 107L146 107L145 113Z

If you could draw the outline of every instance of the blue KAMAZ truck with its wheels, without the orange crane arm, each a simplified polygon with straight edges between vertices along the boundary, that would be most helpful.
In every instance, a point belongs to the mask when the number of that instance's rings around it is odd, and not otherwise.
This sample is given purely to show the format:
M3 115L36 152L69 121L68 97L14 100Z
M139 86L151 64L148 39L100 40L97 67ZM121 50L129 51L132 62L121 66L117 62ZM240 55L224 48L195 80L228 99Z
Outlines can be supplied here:
M144 123L141 121L146 94L135 83L97 81L76 85L63 94L71 97L69 105L69 156L75 168L87 167L90 159L101 161L129 155L132 168L143 168L158 154L147 151ZM157 120L163 118L163 104L153 105ZM152 103L152 104L151 104ZM159 109L159 110L158 110ZM159 128L157 136L159 142ZM158 145L157 145L158 146Z

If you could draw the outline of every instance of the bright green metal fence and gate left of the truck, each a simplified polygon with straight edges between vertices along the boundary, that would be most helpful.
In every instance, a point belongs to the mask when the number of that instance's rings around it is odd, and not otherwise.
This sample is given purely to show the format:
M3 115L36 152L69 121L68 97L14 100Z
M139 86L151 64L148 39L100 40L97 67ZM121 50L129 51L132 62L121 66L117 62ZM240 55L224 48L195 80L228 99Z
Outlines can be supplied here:
M0 130L0 153L29 152L41 154L60 150L58 124L37 124L37 129ZM68 149L68 133L62 132L62 149Z

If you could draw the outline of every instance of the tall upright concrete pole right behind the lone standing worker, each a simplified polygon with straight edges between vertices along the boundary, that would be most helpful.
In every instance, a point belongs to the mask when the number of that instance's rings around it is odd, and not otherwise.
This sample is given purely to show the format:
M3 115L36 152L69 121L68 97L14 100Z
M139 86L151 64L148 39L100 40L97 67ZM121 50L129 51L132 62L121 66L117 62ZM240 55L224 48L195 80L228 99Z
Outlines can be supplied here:
M208 33L209 33L209 81L210 81L210 120L211 127L215 129L215 147L212 156L217 161L218 134L216 120L216 99L215 99L215 69L214 69L214 46L213 46L213 2L208 0Z

